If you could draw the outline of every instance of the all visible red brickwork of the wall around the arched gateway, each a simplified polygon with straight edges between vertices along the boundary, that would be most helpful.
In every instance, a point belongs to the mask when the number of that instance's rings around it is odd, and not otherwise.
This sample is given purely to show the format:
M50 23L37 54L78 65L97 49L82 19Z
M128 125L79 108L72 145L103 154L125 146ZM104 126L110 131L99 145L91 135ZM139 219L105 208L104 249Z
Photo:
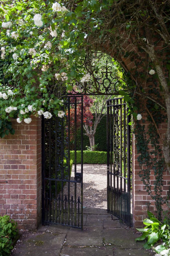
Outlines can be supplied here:
M162 43L157 46L163 48ZM135 51L137 55L131 59L124 56L116 57L108 44L105 46L107 53L117 59L122 67L131 73L131 78L143 88L149 84L146 80L134 76L134 67L141 59L145 60L145 53L138 52L131 43L125 47L125 52ZM138 66L138 71L144 72L147 77L145 61ZM142 66L143 65L143 66ZM158 83L159 84L159 83ZM147 130L147 112L142 113ZM16 219L20 229L35 229L41 221L41 119L33 117L29 125L18 124L13 120L15 135L5 136L0 139L0 214L10 215ZM167 124L159 124L159 131L164 138ZM144 190L144 185L138 175L140 167L137 161L137 148L135 146L135 136L132 141L132 189L133 189L133 225L143 226L142 220L147 217L147 210L155 213L154 201ZM160 140L162 148L162 141ZM152 150L152 145L149 145ZM168 172L163 176L163 192L166 195L169 190ZM155 180L154 172L151 170L151 185ZM167 210L167 206L164 206Z

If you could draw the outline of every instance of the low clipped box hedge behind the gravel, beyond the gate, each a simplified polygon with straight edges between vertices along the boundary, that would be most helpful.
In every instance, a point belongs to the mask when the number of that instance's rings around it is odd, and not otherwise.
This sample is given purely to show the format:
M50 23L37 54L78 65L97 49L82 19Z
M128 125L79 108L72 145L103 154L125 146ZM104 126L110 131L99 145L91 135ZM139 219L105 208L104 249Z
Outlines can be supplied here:
M74 150L70 151L70 159L74 163ZM107 152L104 151L83 151L83 164L106 164ZM77 164L81 164L81 151L77 151Z

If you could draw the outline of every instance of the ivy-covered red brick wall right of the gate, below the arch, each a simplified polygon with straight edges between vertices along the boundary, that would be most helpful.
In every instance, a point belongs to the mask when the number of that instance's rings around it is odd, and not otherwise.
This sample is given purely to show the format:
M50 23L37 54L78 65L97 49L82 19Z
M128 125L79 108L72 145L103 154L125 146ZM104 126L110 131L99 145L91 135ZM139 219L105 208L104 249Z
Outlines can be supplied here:
M145 119L145 123L141 123L142 125L145 125L145 131L148 129L148 122L147 122L147 114L142 114L142 119ZM166 127L167 124L160 124L159 125L159 131L162 135L162 138L164 138L166 133ZM159 139L159 145L162 149L162 141ZM147 218L147 210L153 212L153 214L156 216L156 208L153 199L148 195L146 190L144 190L143 182L141 181L141 178L139 177L139 171L141 170L137 161L138 153L136 148L136 141L135 141L135 135L132 136L132 214L133 214L133 226L135 228L141 228L143 227L143 220ZM149 149L152 151L153 147L151 144L148 145ZM144 168L144 166L143 166ZM154 176L154 171L151 170L150 175L150 182L151 182L151 189L152 193L154 194L154 180L156 177ZM163 173L163 187L162 187L162 196L166 196L169 191L169 180L170 175L169 172L166 171ZM169 207L167 205L163 206L163 210L169 210Z

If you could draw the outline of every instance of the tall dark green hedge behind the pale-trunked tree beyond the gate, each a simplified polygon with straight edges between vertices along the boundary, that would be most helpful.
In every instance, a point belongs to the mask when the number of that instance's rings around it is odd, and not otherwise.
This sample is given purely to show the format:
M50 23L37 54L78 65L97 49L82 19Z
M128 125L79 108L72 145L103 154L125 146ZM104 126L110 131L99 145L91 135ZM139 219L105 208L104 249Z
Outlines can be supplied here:
M84 129L83 129L83 133L85 133ZM100 121L96 129L95 144L98 144L98 147L96 150L107 151L107 116L106 115L103 116L102 120ZM83 150L87 149L86 146L90 147L90 141L89 141L89 137L86 134L83 134ZM74 141L70 142L70 148L74 150ZM77 150L81 150L81 129L77 130Z

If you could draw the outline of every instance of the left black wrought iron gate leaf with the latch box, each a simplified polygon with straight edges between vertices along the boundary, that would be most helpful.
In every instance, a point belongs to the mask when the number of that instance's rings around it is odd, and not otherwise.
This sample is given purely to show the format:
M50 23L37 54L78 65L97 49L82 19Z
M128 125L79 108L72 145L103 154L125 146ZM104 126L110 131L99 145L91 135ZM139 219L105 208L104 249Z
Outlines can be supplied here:
M81 122L81 168L77 172L77 108ZM83 226L83 96L64 98L63 117L42 118L42 223ZM73 111L74 118L70 118ZM60 113L61 114L61 113ZM70 129L74 134L71 177Z

